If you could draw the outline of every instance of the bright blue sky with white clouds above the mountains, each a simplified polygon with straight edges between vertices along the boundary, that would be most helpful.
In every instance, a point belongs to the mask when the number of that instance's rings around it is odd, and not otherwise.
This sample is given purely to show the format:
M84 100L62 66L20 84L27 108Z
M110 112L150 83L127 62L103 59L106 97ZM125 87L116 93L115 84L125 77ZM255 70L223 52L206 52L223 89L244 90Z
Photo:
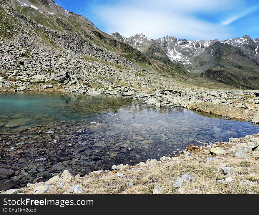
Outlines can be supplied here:
M258 0L54 0L87 17L97 28L124 37L138 33L150 39L259 37Z

